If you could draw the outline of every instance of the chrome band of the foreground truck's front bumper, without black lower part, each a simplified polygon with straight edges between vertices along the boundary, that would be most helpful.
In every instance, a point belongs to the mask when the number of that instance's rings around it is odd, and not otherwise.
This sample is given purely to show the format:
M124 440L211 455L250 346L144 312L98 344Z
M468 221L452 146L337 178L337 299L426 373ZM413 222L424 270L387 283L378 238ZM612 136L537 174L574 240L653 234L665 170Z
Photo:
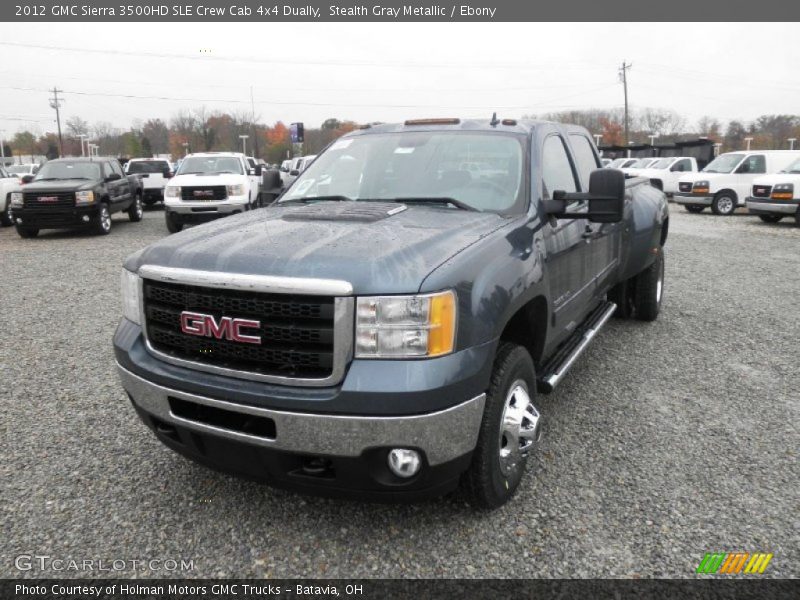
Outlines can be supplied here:
M360 456L364 450L375 447L419 448L431 466L463 456L475 448L486 400L486 395L481 394L446 410L406 417L319 415L258 408L188 394L142 379L119 363L117 372L133 402L167 423L256 446L305 454ZM276 435L274 439L266 438L176 416L170 409L169 397L272 419Z

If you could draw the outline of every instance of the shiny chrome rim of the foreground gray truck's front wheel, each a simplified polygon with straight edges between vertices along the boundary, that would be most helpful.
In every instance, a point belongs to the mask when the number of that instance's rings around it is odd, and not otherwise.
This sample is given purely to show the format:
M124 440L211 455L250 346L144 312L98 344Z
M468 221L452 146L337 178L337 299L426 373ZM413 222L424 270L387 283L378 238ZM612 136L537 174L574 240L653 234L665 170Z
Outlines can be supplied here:
M538 437L538 425L539 411L531 402L528 384L518 379L506 394L500 419L498 454L503 475L510 475L527 456Z

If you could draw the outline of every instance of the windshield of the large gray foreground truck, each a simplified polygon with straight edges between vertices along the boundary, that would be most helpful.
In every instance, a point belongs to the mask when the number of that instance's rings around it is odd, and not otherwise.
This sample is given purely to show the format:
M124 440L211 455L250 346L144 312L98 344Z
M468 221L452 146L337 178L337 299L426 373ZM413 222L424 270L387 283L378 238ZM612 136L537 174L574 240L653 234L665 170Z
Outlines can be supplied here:
M494 133L414 132L341 139L316 157L282 202L453 199L507 212L524 201L523 144Z

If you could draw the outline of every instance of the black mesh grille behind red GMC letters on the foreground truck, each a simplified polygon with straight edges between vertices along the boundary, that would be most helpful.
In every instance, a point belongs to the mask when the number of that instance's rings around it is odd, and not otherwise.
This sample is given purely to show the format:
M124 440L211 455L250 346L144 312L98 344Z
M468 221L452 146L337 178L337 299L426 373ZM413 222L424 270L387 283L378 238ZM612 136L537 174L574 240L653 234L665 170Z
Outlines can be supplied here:
M260 344L181 331L181 312L261 322L248 328ZM150 344L168 356L226 369L289 378L322 379L333 371L334 299L330 296L262 294L144 281ZM223 336L224 338L225 336Z

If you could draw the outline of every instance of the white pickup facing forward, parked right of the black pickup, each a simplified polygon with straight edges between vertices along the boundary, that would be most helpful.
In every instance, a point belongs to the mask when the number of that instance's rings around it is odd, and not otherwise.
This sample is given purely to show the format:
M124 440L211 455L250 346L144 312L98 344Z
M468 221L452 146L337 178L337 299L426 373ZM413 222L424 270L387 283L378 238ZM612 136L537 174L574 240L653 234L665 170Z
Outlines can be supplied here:
M256 171L261 175L261 169ZM183 159L164 191L170 233L258 206L259 184L240 152L202 152Z

